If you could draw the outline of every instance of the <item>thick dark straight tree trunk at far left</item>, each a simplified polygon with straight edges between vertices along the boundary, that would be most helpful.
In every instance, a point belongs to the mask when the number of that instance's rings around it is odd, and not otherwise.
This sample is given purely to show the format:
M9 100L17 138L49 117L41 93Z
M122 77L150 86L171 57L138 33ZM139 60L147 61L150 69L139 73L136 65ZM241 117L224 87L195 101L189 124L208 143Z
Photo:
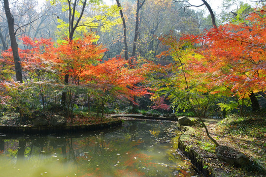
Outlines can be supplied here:
M10 12L9 8L9 2L8 0L4 0L4 10L5 10L5 15L7 18L7 23L8 23L8 30L9 30L9 35L10 35L10 42L11 42L11 48L13 51L13 58L14 58L14 63L15 63L15 72L16 72L16 80L20 83L23 83L22 79L22 67L20 64L20 58L19 58L19 53L18 53L18 44L16 40L16 34L14 31L14 18Z

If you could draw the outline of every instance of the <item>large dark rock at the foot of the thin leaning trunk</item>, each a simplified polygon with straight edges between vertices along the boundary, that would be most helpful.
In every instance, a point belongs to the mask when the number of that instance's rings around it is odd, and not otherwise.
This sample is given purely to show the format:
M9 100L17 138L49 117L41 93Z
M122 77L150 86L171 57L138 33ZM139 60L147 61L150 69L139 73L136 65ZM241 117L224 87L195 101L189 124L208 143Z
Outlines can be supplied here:
M250 164L249 157L242 152L234 150L233 148L219 146L215 149L215 152L219 159L230 165L244 167Z

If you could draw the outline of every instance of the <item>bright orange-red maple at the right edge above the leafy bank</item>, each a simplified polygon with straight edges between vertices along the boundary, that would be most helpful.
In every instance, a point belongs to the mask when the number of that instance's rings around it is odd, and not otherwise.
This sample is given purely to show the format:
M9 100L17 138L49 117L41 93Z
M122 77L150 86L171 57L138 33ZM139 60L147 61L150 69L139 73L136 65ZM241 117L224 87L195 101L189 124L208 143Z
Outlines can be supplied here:
M245 22L212 29L196 41L196 53L212 82L230 90L237 101L248 97L253 111L260 110L256 94L266 88L265 10L255 9ZM238 105L242 115L243 105Z

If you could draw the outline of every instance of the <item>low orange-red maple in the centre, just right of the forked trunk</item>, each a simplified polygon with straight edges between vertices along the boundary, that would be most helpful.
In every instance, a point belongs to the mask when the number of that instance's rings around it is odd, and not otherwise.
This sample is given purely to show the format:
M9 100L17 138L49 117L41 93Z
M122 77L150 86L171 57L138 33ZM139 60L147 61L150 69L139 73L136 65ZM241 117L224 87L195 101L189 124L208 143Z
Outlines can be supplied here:
M97 86L97 99L101 105L101 116L107 101L114 99L134 101L134 96L149 94L144 87L137 86L145 80L142 68L132 68L128 60L117 56L92 66L90 73ZM135 103L136 104L136 103Z

